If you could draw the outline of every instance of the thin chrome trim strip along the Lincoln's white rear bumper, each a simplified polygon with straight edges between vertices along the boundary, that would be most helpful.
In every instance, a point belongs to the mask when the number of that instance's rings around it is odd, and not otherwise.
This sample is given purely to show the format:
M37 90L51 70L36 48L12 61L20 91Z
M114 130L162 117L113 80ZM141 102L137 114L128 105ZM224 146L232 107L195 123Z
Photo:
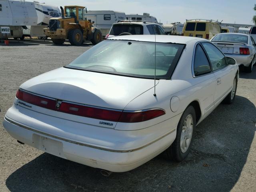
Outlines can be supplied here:
M34 130L32 128L29 128L27 126L24 126L22 124L19 124L19 123L16 123L12 120L10 120L9 118L7 118L6 116L4 117L4 120L8 121L9 123L11 124L14 124L16 126L19 126L19 127L22 127L22 128L25 128L27 130L30 130L30 131L33 131L33 132L36 132L36 133L39 133L39 134L42 134L42 135L45 135L45 136L49 136L49 137L52 137L52 138L55 138L55 139L58 139L58 140L62 140L62 141L66 141L66 142L70 142L70 143L73 143L73 144L77 144L77 145L81 145L81 146L86 146L86 147L90 147L90 148L95 148L95 149L99 149L99 150L104 150L104 151L109 151L109 152L118 152L118 153L126 153L126 152L133 152L133 151L137 151L137 150L140 150L142 148L145 148L151 144L153 144L154 142L157 142L159 141L160 139L168 136L169 134L173 133L176 129L173 129L171 130L170 132L164 134L163 136L161 136L160 138L157 138L156 140L142 146L142 147L139 147L139 148L136 148L136 149L131 149L131 150L112 150L112 149L107 149L107 148L102 148L102 147L97 147L97 146L93 146L93 145L88 145L88 144L84 144L84 143L80 143L80 142L76 142L76 141L72 141L72 140L68 140L68 139L65 139L65 138L61 138L61 137L58 137L58 136L54 136L54 135L50 135L50 134L47 134L47 133L44 133L44 132L41 132L41 131L38 131L38 130Z

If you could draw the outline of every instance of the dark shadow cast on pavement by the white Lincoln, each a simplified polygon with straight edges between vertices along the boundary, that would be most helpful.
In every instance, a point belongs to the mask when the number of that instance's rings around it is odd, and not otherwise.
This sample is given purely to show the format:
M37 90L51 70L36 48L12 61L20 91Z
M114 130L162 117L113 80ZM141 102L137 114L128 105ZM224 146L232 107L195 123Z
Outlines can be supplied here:
M220 104L196 127L192 150L183 162L157 156L110 177L100 170L42 154L6 180L11 192L34 191L230 191L246 163L255 132L256 108L242 96Z

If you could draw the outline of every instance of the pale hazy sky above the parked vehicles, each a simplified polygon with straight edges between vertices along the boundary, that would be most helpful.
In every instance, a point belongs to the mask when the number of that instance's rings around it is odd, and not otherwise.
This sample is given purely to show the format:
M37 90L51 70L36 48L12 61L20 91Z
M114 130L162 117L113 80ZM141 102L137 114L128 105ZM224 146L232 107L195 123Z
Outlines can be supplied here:
M126 14L150 13L158 22L212 19L223 23L253 24L254 0L41 0L54 6L79 5L87 10L114 10Z

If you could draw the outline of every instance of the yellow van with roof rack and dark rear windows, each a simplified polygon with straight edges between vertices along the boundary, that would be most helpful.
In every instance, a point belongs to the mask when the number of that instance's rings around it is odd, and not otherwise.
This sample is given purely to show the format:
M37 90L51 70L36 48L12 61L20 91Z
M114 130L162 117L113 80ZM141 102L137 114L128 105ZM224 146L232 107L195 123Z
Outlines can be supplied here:
M186 20L182 35L210 40L214 35L221 33L220 24L220 22L214 20Z

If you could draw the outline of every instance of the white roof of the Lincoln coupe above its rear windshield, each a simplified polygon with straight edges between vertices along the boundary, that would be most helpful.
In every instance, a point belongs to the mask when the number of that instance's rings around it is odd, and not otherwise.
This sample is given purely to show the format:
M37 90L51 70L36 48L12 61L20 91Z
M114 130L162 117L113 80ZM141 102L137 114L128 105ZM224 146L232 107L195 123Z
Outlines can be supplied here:
M187 37L187 36L174 36L174 35L126 35L126 36L115 36L107 40L132 40L132 41L145 41L145 42L160 42L160 43L178 43L187 44L188 42L194 40L198 41L208 41L202 38Z

